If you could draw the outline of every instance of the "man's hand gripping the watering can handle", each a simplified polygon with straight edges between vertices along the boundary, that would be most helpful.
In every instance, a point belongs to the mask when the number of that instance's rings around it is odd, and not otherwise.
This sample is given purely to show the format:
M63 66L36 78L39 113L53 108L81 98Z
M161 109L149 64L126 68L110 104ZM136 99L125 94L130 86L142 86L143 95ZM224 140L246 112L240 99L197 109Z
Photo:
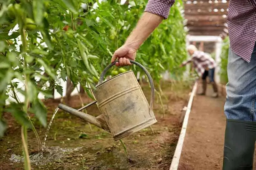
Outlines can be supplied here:
M127 45L123 45L115 51L112 56L111 63L118 59L119 62L116 62L116 66L132 65L129 60L135 60L135 57L136 49L128 47Z

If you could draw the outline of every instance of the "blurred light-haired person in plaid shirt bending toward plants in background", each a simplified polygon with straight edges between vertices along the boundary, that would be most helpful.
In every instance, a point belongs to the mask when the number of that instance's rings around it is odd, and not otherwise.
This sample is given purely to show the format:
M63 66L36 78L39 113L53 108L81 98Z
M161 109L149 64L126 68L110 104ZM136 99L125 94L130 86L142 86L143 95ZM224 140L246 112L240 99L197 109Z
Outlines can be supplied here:
M212 97L218 97L218 88L214 81L214 71L216 67L215 61L209 54L204 53L203 51L198 51L194 45L189 45L187 50L191 57L187 61L183 62L180 67L193 62L196 72L203 80L203 92L199 93L199 95L205 95L207 87L206 77L209 76L214 92Z

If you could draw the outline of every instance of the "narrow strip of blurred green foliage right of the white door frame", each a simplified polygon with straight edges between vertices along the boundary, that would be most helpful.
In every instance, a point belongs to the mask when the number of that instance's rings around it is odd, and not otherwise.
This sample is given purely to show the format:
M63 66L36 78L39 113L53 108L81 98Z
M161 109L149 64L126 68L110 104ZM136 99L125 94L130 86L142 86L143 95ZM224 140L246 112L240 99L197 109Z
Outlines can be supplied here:
M228 83L228 73L227 73L227 67L228 67L228 48L229 48L229 38L226 37L222 44L221 49L221 62L220 62L220 82L222 84Z

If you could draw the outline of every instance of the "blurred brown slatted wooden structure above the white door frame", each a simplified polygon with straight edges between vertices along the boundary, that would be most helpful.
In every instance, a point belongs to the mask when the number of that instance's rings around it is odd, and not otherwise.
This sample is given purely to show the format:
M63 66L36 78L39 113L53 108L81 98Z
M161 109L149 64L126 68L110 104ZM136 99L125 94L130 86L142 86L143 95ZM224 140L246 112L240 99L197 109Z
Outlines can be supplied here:
M184 14L189 35L228 35L229 0L184 0Z

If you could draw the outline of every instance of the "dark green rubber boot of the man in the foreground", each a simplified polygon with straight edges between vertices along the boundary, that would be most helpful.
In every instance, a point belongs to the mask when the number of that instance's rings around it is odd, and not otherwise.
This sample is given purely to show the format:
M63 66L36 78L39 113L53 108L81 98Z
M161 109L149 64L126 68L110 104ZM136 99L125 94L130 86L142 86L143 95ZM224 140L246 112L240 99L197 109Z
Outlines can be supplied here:
M222 170L252 170L256 122L227 119Z

